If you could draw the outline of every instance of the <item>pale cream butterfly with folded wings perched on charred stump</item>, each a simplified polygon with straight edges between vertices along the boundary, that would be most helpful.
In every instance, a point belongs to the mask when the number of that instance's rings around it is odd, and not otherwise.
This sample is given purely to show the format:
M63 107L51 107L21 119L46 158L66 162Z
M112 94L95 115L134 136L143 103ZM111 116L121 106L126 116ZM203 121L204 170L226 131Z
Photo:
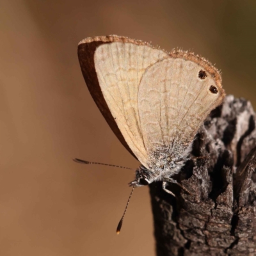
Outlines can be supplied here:
M85 38L78 57L100 112L141 163L130 186L161 180L173 195L168 182L177 183L196 132L225 97L220 72L192 52L116 35Z

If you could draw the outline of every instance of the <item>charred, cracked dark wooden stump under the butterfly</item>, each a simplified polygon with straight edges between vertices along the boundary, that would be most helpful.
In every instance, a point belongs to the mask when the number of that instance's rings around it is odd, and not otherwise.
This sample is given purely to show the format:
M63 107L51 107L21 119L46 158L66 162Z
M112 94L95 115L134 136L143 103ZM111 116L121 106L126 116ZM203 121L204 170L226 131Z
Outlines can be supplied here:
M232 95L198 131L191 160L162 189L150 185L156 251L168 255L256 255L256 129L250 102Z

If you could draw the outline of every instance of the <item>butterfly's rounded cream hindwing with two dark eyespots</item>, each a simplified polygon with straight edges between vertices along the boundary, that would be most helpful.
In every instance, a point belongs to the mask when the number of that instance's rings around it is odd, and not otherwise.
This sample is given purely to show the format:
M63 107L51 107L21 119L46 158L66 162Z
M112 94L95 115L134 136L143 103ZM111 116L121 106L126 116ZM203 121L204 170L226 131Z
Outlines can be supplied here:
M172 147L172 141L188 147L206 116L225 96L218 76L184 58L168 58L146 70L138 106L148 152Z

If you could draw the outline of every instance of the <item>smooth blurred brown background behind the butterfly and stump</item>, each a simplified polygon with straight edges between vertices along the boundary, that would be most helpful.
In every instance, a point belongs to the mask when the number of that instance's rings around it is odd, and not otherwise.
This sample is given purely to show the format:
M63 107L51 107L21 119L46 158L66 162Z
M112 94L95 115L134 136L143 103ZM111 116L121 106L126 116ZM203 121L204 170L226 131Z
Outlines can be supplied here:
M154 255L148 188L86 88L77 44L124 35L216 63L227 93L255 106L256 2L0 1L0 255Z

